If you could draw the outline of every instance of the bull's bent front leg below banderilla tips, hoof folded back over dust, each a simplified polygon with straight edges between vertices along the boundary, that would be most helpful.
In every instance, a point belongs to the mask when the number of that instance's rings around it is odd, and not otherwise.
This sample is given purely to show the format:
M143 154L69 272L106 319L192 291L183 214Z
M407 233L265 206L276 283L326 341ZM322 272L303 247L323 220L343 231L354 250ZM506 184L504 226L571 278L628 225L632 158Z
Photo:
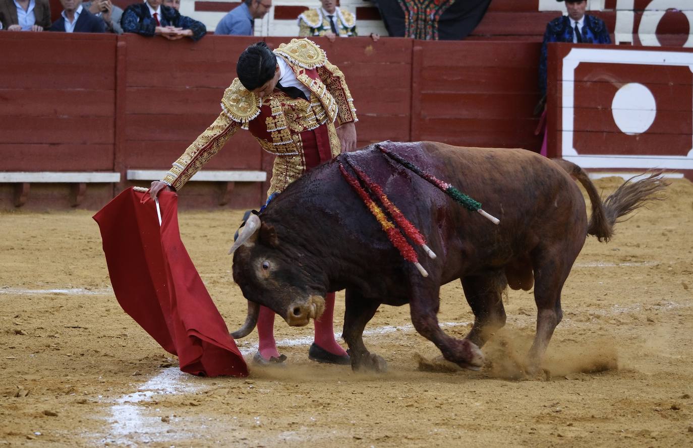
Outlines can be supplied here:
M439 287L412 288L410 311L416 331L439 348L443 357L460 367L479 370L484 364L481 350L469 339L455 339L438 325Z

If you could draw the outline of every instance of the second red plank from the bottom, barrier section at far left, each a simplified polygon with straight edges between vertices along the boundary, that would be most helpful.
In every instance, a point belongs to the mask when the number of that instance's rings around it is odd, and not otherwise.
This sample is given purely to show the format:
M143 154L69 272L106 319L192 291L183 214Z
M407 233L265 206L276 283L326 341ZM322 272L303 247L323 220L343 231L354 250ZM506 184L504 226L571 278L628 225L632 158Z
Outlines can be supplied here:
M7 116L0 120L3 143L113 144L112 117L46 116L40 125L26 117Z

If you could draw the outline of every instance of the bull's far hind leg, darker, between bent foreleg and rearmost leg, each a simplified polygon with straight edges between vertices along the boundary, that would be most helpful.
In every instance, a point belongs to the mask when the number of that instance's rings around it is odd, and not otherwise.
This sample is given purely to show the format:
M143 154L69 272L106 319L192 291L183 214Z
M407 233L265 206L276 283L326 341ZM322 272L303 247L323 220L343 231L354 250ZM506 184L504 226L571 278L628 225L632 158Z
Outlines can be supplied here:
M464 296L474 312L474 326L465 339L483 347L491 333L505 325L505 308L501 294L506 286L505 274L502 271L486 276L462 278Z

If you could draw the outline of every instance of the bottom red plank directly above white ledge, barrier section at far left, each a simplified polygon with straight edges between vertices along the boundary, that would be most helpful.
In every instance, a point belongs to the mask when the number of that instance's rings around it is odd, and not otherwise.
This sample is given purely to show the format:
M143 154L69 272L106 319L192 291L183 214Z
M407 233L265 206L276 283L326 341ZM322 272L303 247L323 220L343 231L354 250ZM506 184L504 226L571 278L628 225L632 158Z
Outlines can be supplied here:
M113 147L75 143L0 143L2 170L100 171L113 167Z

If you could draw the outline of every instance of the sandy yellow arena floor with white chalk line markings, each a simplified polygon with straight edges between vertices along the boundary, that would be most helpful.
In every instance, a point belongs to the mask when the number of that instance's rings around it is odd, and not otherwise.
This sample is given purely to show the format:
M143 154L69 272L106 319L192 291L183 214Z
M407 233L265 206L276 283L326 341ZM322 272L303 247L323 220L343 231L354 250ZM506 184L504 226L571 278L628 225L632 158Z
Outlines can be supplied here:
M610 192L620 179L597 181ZM182 237L229 328L245 317L226 255L241 211L182 213ZM516 378L534 298L510 291L481 372L419 370L439 352L383 306L366 343L389 373L308 361L312 325L277 320L285 369L247 379L180 373L119 307L93 213L0 213L0 447L693 446L693 184L589 238L563 289L547 380ZM202 229L202 230L200 230ZM459 282L446 331L473 317ZM343 295L335 328L341 328ZM249 356L257 334L239 341ZM317 442L319 445L313 445Z

